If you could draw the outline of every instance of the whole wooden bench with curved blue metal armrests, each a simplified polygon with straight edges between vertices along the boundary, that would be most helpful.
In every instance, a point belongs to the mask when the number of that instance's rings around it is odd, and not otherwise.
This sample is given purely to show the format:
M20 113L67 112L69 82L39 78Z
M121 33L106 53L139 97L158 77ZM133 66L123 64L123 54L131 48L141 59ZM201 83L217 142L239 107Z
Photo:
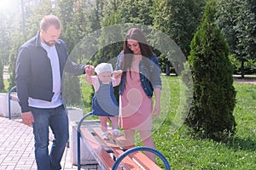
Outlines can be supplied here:
M166 157L163 156L160 151L148 148L145 146L138 146L131 148L130 150L124 150L124 146L127 144L125 137L121 136L110 140L102 139L102 129L100 127L86 128L81 124L87 116L85 115L78 125L78 169L81 168L80 163L80 138L90 151L90 154L95 158L98 166L102 169L146 169L146 170L160 170L162 169L154 161L151 161L148 156L145 156L142 151L149 151L159 156L164 162L166 169L171 169Z

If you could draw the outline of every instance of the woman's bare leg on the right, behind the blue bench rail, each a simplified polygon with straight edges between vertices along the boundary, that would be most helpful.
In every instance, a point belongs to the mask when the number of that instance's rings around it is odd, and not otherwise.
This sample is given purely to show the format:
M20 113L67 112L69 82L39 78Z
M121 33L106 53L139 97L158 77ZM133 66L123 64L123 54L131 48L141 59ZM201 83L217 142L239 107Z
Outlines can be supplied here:
M143 140L143 145L154 149L154 141L152 139L151 131L150 130L147 130L147 131L140 130L139 133L140 133L141 139ZM147 151L147 152L145 152L145 155L148 156L148 158L150 160L155 162L155 155L153 153Z

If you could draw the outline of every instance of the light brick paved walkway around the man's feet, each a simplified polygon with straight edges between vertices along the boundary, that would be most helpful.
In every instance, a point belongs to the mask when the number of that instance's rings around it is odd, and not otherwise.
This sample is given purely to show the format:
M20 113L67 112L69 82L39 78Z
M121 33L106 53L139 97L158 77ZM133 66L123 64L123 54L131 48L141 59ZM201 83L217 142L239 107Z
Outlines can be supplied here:
M21 123L20 119L9 120L0 116L0 170L36 170L33 143L32 127ZM70 148L65 150L61 167L78 169L71 162ZM81 169L96 169L96 166Z

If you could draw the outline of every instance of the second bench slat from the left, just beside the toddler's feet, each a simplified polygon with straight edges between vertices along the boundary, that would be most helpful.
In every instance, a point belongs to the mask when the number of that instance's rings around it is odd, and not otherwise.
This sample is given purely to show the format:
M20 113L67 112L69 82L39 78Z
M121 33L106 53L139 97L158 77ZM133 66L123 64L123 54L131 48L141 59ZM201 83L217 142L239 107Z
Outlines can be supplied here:
M118 157L124 153L124 150L121 150L118 145L113 144L110 140L102 139L102 129L97 127L93 128L98 138L100 138L103 144L106 144L110 150L113 151L113 155ZM132 161L129 156L126 156L124 160L120 162L120 164L127 169L141 169L136 162Z

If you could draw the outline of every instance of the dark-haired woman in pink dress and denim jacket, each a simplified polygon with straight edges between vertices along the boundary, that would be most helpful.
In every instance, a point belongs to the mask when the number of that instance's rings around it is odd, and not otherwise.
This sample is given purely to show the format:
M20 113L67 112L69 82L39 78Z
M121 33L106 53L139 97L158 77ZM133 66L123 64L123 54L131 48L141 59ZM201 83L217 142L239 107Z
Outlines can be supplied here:
M119 126L124 129L125 138L131 142L128 148L134 144L136 130L143 145L154 148L152 116L160 114L160 65L138 28L127 31L123 51L116 63L116 70L119 69L123 71L119 84ZM155 161L154 154L146 155Z

